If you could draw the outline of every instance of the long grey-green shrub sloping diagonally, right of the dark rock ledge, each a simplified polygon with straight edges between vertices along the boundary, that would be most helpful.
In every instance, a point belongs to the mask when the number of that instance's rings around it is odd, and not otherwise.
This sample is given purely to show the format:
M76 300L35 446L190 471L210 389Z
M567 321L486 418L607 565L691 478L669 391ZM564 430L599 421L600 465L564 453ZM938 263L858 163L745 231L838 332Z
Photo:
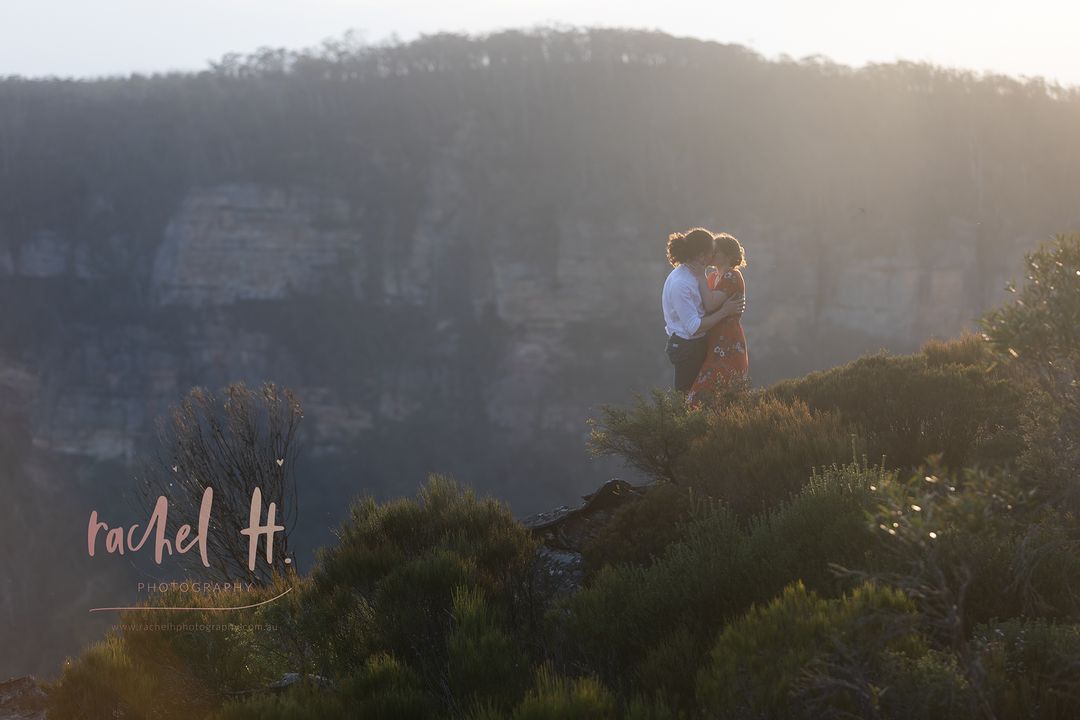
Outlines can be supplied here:
M565 614L553 613L567 655L624 696L662 691L687 709L691 670L724 622L800 578L828 594L846 587L829 566L867 561L869 487L882 477L865 466L829 467L748 527L715 506L685 522L651 566L602 568Z

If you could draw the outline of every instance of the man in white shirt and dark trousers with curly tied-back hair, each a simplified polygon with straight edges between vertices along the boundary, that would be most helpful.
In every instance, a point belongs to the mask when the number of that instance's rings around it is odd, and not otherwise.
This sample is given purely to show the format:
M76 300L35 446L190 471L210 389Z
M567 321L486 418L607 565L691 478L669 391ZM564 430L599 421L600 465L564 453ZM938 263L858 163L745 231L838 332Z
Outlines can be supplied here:
M714 235L704 228L667 236L667 260L674 267L664 281L661 303L667 331L667 359L675 369L674 386L687 392L705 362L705 334L728 315L741 314L746 307L742 297L731 298L719 310L705 314L701 283L705 266L713 257Z

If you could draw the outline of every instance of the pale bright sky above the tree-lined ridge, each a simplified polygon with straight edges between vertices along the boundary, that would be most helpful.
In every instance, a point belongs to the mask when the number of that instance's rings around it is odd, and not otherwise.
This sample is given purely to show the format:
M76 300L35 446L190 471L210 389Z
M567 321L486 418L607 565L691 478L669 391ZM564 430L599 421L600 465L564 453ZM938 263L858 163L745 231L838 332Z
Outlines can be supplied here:
M1080 85L1068 0L0 0L0 76L200 70L225 53L538 24L664 30L767 57L927 60Z

